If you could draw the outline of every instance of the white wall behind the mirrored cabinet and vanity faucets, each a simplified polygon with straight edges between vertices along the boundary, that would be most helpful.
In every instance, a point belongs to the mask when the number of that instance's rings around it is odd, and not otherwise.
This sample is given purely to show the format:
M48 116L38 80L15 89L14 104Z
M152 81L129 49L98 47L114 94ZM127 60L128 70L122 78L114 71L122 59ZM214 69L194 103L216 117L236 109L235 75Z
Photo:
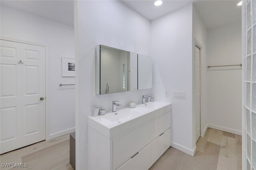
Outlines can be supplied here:
M87 117L92 107L112 109L112 100L120 100L120 107L129 101L141 102L141 95L149 90L96 95L96 45L107 45L150 56L150 21L119 1L76 1L76 168L87 167ZM120 108L119 107L119 108ZM119 109L118 108L118 109Z

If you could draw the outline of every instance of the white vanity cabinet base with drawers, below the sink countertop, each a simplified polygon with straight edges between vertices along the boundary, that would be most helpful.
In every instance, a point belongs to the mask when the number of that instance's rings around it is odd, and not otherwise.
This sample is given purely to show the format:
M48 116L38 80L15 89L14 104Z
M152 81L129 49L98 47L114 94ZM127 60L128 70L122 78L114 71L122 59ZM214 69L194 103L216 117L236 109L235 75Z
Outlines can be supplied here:
M139 124L127 127L128 130L120 131L120 134L112 138L100 133L103 127L97 129L90 126L94 126L95 122L88 123L88 168L149 169L171 146L171 104L163 107L151 109L139 116L144 116L142 121L138 121Z

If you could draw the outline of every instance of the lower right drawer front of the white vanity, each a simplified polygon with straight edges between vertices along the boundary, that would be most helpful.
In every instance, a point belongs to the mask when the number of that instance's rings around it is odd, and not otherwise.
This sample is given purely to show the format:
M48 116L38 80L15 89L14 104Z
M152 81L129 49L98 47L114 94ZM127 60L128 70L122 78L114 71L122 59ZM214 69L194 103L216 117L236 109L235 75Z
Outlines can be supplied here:
M169 128L160 137L151 143L151 164L171 146L171 129Z

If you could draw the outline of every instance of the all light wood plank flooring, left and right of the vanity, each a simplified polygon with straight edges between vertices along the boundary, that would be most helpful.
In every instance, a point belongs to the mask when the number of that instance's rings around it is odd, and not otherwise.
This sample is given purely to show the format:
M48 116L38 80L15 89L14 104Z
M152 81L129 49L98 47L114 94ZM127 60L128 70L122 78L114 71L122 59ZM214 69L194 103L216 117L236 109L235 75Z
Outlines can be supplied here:
M73 170L69 163L69 134L0 155L0 163L28 163L30 170ZM7 170L8 168L0 168ZM241 170L242 137L208 128L190 156L170 147L150 170Z

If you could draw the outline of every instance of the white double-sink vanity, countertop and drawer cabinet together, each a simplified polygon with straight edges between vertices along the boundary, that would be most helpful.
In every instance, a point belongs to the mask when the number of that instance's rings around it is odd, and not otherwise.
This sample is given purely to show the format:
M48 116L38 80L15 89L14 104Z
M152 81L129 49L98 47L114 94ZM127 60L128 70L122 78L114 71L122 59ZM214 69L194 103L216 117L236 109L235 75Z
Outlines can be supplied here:
M171 146L172 105L148 102L88 118L90 170L147 170Z

